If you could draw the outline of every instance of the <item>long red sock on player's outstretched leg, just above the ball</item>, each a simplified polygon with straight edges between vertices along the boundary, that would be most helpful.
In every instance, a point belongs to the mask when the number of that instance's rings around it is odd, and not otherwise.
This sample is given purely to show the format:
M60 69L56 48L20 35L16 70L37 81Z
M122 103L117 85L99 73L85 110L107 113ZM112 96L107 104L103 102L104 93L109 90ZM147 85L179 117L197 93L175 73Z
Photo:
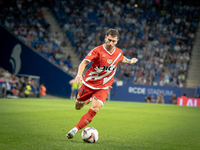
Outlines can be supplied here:
M80 130L85 126L87 126L92 121L95 115L96 112L90 108L88 112L85 115L83 115L81 120L77 123L76 125L77 129Z

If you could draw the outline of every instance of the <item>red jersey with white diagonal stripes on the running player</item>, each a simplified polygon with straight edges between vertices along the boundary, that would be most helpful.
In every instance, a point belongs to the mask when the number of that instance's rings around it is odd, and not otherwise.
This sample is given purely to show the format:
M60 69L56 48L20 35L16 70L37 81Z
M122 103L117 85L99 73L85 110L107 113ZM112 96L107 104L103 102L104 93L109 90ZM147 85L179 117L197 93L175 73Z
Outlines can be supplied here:
M87 70L82 83L91 89L108 89L114 81L117 64L123 59L123 52L117 47L112 53L104 44L94 48L84 59L92 62L92 67Z

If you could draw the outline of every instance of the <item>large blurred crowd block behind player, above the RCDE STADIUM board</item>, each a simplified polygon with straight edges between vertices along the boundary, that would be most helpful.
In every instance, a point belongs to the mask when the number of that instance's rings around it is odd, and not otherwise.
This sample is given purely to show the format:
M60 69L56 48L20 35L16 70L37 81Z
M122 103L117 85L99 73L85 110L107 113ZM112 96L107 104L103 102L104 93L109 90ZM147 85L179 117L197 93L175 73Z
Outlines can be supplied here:
M136 65L119 65L116 81L184 87L195 33L199 2L53 0L51 8L83 59L104 42L109 28L120 31L117 47Z

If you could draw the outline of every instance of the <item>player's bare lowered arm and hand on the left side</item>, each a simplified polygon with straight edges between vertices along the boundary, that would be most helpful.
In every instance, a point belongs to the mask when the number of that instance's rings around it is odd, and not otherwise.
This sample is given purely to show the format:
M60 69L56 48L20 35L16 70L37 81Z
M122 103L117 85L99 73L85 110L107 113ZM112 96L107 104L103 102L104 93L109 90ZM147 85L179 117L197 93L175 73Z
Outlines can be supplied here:
M79 65L79 67L78 67L78 73L77 73L77 75L76 75L76 77L75 77L75 83L79 84L79 83L82 81L82 79L83 79L83 77L82 77L83 71L85 70L85 67L86 67L88 64L89 64L89 61L87 61L87 60L83 60L83 61L80 63L80 65Z

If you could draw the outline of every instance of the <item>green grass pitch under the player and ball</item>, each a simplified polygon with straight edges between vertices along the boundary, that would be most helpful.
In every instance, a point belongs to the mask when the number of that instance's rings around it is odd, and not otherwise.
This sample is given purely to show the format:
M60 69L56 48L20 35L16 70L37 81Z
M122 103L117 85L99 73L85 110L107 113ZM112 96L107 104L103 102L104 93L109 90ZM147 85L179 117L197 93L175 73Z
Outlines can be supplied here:
M69 99L0 99L1 150L199 150L200 108L106 101L88 125L99 132L84 143L66 133L90 105Z

